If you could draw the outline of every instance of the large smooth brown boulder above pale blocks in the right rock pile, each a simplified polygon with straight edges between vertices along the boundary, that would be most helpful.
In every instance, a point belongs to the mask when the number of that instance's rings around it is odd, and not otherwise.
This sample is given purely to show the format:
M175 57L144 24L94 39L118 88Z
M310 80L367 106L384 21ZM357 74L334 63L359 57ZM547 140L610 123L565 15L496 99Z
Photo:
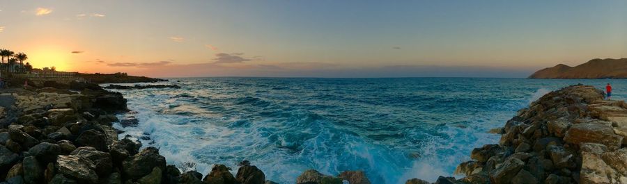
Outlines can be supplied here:
M566 132L564 141L571 144L581 144L583 142L594 142L604 144L609 149L621 147L623 137L616 135L614 129L600 122L588 122L574 124Z

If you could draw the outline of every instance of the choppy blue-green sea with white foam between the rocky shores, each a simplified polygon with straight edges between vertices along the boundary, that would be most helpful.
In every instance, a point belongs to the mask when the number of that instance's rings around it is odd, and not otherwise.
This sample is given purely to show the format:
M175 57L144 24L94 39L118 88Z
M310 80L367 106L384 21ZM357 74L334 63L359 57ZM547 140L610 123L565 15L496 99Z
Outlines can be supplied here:
M139 125L114 127L203 175L249 160L277 183L307 169L362 170L374 184L435 181L543 94L582 83L627 99L627 80L527 78L169 78L180 89L113 90ZM136 85L133 83L121 85ZM461 176L458 176L461 177Z

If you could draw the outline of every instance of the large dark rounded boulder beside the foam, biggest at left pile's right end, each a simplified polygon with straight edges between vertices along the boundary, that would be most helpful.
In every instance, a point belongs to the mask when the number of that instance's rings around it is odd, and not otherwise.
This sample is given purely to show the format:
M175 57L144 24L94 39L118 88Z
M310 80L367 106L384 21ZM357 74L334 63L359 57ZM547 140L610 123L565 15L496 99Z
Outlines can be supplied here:
M122 163L124 173L127 177L137 180L153 172L153 168L165 169L166 160L159 155L159 150L155 147L147 147L133 157L126 158Z

